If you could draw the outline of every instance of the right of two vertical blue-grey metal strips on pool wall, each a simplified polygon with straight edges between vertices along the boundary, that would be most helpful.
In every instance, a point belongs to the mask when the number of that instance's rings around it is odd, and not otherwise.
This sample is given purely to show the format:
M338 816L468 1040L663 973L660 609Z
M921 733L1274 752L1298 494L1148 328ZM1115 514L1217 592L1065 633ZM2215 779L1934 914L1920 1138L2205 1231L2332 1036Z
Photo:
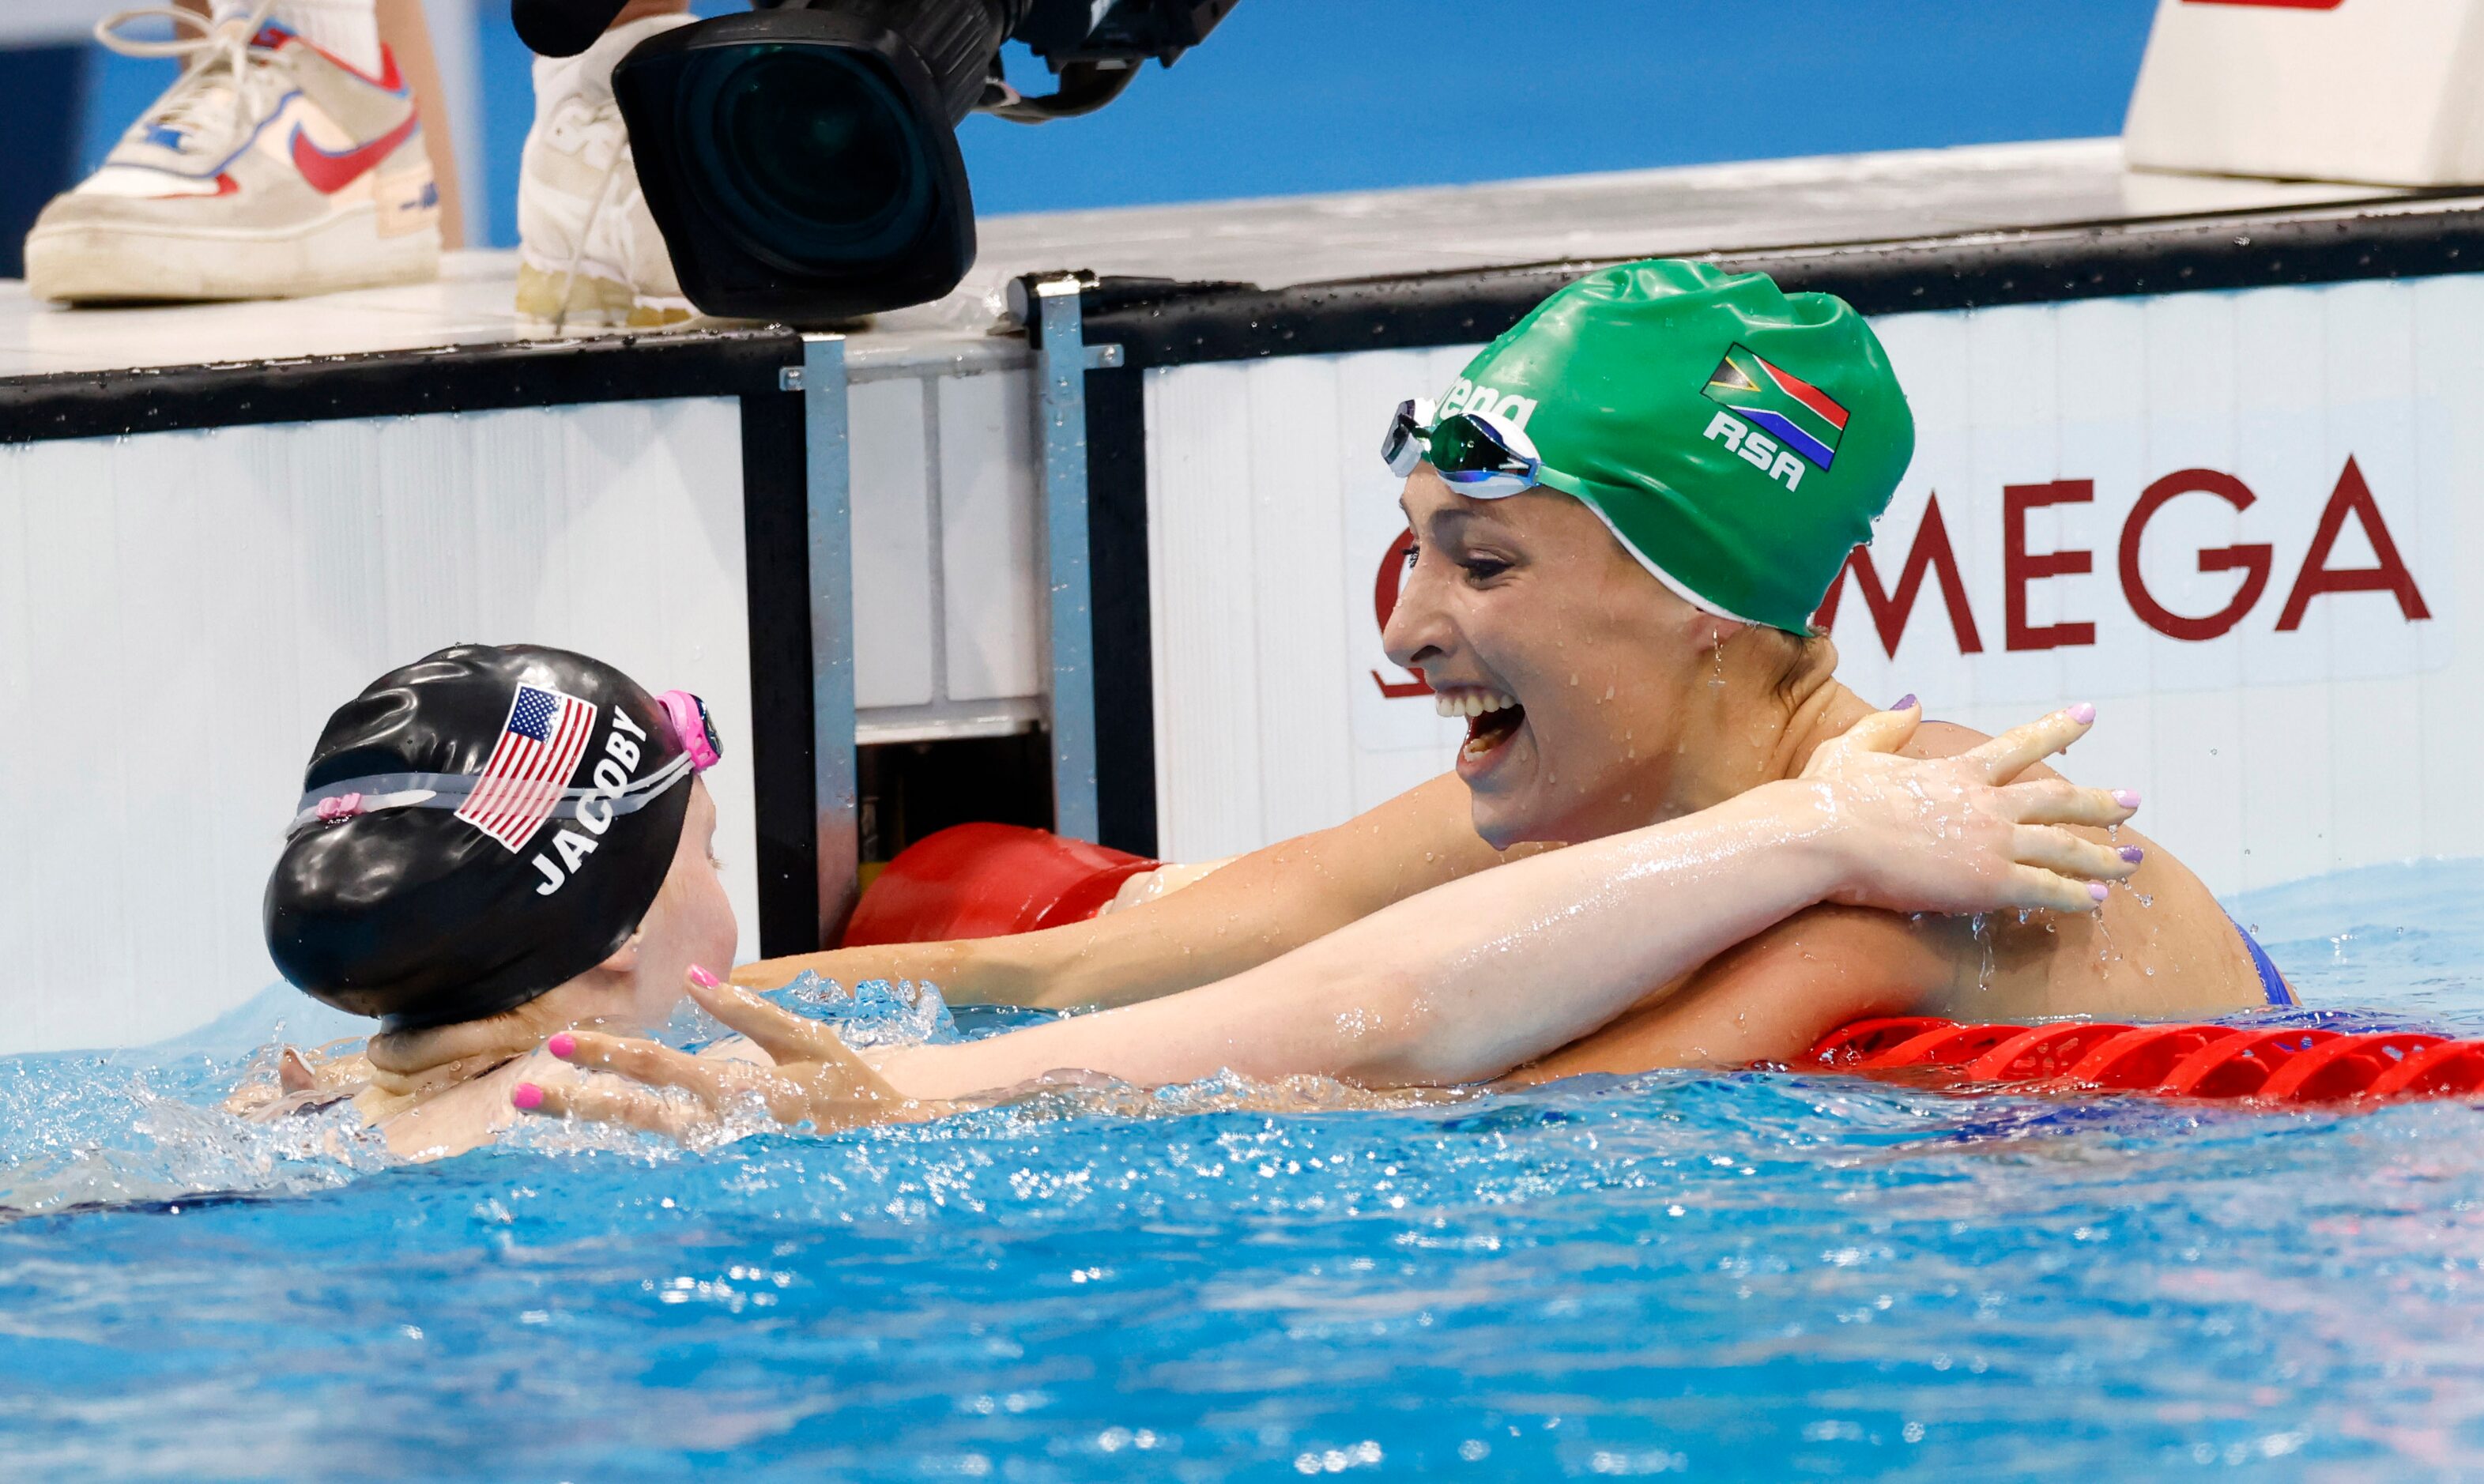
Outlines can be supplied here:
M1053 829L1095 839L1095 628L1088 606L1086 372L1118 345L1086 345L1076 275L1036 283L1036 437L1043 444L1043 563L1051 593Z

